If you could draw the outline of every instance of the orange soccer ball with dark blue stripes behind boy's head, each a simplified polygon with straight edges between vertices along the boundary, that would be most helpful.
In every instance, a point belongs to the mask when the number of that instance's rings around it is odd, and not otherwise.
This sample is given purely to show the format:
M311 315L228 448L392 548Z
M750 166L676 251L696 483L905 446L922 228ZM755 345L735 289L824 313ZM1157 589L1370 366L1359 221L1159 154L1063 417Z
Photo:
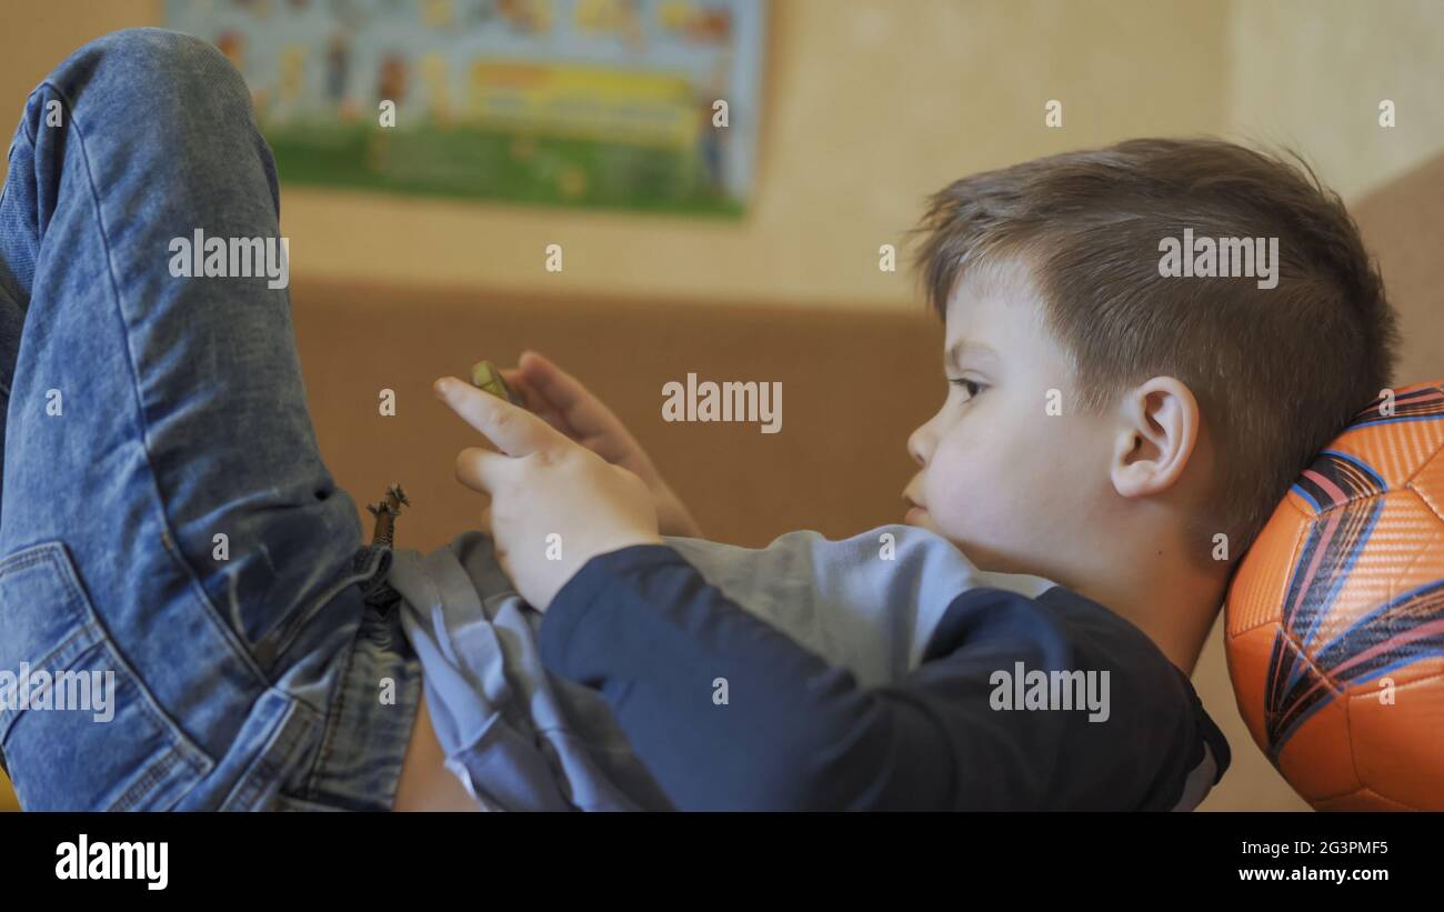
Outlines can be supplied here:
M1315 810L1444 810L1444 381L1318 455L1225 610L1239 713Z

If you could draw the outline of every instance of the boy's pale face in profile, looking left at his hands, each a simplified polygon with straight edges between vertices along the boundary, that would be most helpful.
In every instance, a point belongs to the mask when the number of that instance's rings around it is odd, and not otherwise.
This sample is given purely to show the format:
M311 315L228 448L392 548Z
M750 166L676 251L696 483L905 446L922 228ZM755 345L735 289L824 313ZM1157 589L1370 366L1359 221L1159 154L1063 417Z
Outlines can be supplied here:
M921 470L902 492L915 504L904 521L985 570L1058 582L1050 569L1073 563L1116 504L1110 434L1074 407L1067 355L1021 266L965 273L943 351L947 398L908 437Z

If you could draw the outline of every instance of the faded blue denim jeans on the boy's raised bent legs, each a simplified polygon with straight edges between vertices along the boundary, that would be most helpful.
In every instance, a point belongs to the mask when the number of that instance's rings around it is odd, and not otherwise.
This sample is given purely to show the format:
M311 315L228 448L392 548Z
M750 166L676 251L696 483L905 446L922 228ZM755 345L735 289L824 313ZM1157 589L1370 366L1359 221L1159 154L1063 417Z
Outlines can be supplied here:
M170 266L196 229L280 237L240 74L192 38L110 35L35 89L9 160L0 753L22 805L388 810L420 667L378 596L390 548L316 450L289 293ZM85 681L105 711L75 709Z

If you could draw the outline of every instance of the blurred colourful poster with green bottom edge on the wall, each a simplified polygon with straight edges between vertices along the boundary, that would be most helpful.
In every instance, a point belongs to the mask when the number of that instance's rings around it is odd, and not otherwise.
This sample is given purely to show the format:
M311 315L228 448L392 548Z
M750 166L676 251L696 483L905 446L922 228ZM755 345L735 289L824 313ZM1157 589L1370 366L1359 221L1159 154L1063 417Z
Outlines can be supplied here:
M287 183L741 215L765 0L168 0Z

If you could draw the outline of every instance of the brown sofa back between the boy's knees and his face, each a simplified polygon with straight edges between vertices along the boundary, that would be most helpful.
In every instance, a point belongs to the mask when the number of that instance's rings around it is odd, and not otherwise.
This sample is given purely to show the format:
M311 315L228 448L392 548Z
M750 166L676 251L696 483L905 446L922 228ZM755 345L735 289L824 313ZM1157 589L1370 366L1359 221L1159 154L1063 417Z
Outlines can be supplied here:
M293 320L322 455L358 505L400 482L400 547L474 527L482 499L453 459L478 434L430 384L536 348L637 434L706 535L762 545L814 528L848 535L902 518L907 436L944 394L941 328L924 313L543 299L297 281ZM669 381L780 381L781 431L666 423ZM396 416L380 414L383 388ZM365 528L370 530L370 517Z

